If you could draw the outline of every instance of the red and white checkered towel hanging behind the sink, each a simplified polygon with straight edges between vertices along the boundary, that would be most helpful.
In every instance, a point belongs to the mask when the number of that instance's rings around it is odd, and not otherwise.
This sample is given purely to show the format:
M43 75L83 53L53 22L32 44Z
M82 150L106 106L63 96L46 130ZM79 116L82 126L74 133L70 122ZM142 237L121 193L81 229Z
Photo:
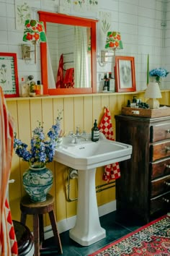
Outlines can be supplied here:
M109 109L104 109L104 116L99 124L99 131L102 132L107 140L114 140L112 120L109 113ZM119 163L111 163L104 167L104 174L102 179L109 182L110 179L120 178L120 166Z

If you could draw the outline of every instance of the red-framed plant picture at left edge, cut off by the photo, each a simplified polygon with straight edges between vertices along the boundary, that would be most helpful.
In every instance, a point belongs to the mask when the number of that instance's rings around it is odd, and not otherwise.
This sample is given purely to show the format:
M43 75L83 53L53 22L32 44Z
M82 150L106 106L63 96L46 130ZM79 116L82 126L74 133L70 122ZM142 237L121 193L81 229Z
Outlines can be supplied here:
M5 98L19 96L17 54L0 53L0 86Z

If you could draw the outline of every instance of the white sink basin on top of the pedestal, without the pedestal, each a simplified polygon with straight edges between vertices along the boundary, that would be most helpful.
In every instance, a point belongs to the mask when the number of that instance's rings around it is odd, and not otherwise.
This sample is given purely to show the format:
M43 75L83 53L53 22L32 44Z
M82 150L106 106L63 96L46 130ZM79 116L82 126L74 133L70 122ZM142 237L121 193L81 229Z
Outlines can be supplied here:
M129 159L131 154L131 145L107 140L101 134L97 142L92 142L89 138L87 141L80 139L79 144L71 143L70 137L64 138L61 147L55 150L54 159L71 168L88 170L124 161Z

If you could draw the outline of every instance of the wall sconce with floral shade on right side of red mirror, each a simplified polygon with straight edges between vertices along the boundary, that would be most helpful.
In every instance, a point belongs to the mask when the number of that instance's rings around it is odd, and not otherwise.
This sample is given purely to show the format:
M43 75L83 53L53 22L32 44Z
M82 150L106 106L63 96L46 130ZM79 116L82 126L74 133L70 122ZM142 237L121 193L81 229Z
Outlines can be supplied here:
M107 39L106 39L105 48L106 49L112 49L113 55L109 55L109 51L102 50L99 65L101 67L104 67L105 64L108 61L108 57L114 57L114 67L115 67L115 52L116 52L116 49L122 49L123 48L120 32L116 32L116 31L107 32Z

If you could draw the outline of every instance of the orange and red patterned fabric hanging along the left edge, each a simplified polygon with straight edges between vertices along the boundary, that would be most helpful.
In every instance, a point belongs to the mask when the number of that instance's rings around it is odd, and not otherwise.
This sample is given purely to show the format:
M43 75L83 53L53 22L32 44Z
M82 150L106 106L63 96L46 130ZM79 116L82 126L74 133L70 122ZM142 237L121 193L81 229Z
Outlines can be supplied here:
M0 86L0 255L17 255L17 240L6 199L12 165L14 124Z

